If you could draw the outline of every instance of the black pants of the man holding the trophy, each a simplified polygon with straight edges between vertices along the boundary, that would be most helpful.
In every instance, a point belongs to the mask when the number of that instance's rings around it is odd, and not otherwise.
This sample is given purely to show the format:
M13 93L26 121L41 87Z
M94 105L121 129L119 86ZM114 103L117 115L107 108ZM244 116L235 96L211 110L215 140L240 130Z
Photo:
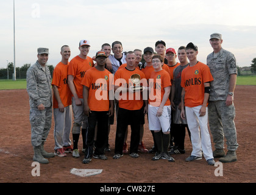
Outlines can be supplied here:
M118 117L116 123L116 140L115 140L115 154L123 154L124 135L128 125L130 125L130 154L138 153L138 144L140 142L140 123L141 123L141 109L140 110L126 110L118 108Z

